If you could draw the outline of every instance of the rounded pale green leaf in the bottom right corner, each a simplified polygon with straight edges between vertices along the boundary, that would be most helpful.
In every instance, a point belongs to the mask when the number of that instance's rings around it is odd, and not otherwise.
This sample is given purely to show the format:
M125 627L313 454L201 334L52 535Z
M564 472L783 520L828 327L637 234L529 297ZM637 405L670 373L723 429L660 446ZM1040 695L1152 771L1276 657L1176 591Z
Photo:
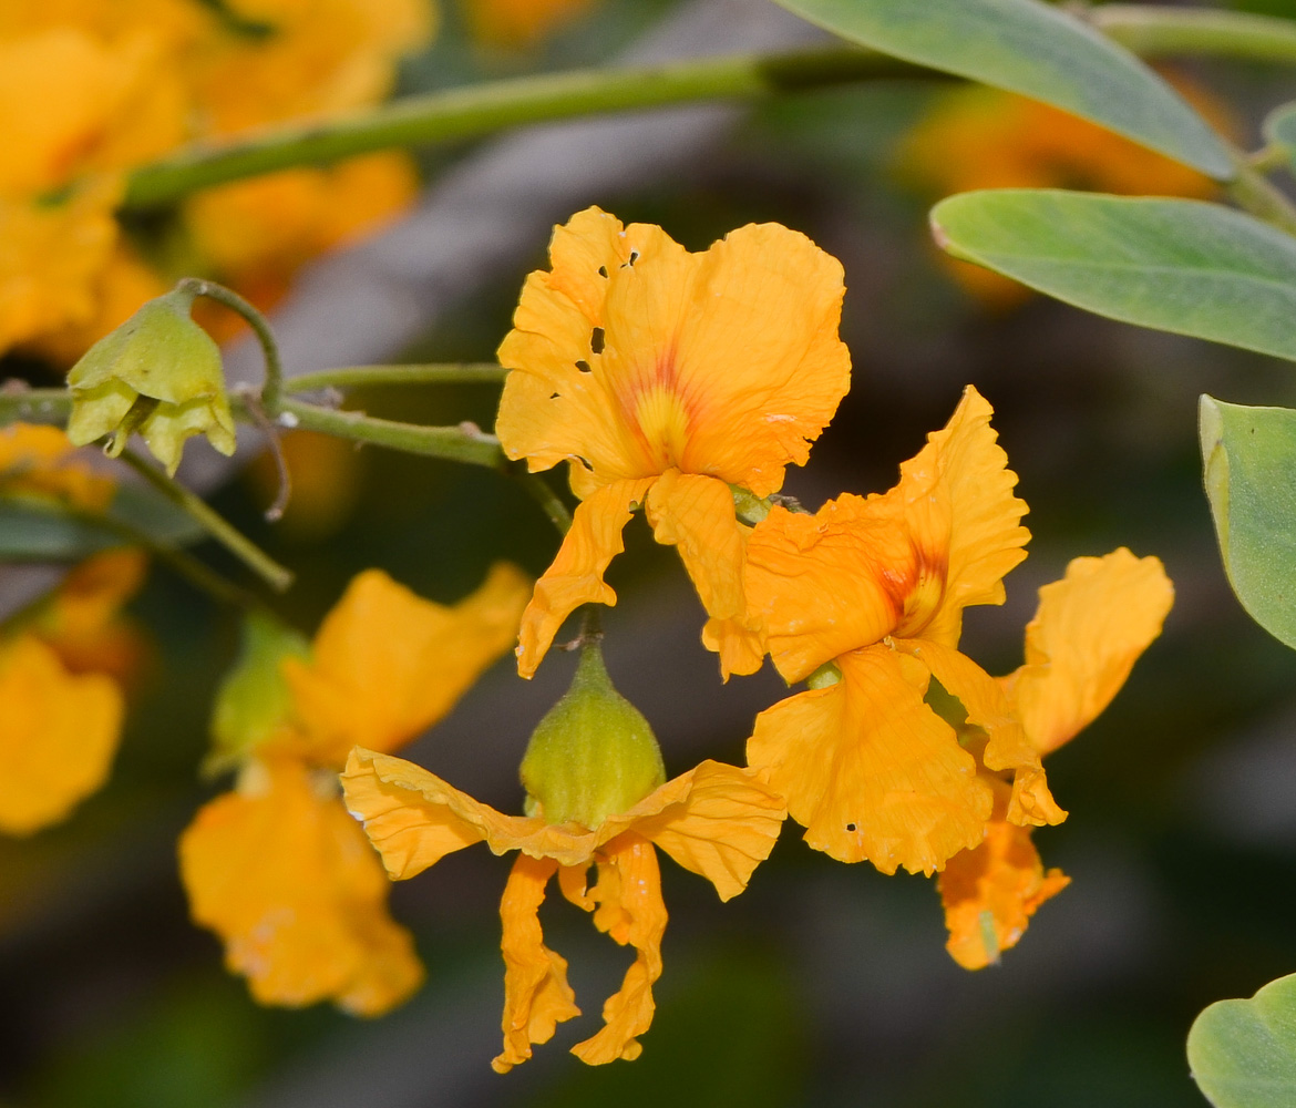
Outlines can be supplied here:
M1296 1104L1296 973L1207 1008L1188 1032L1188 1065L1216 1108Z

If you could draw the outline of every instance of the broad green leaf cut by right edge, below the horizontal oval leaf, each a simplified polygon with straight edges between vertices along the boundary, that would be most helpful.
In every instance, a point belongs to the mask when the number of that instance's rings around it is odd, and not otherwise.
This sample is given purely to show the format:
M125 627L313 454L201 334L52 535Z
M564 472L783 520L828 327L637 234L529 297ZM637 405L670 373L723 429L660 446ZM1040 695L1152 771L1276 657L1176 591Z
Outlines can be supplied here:
M1261 627L1296 648L1296 412L1203 397L1199 428L1232 591Z

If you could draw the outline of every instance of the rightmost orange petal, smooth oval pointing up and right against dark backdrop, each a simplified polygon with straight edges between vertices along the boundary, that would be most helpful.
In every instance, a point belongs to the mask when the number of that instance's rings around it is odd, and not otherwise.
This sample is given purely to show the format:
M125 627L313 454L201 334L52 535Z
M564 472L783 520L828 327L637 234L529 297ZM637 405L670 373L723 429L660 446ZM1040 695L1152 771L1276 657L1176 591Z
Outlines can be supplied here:
M1074 559L1061 581L1039 590L1026 662L1004 679L1036 750L1058 749L1111 704L1173 603L1160 560L1125 547Z

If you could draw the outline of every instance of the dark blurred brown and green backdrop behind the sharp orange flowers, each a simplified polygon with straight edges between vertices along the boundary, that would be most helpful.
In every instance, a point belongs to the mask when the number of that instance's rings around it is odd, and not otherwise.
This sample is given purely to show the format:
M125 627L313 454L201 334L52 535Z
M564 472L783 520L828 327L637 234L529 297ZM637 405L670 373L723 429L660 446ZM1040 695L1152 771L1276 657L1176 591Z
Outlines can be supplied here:
M627 52L815 41L765 0L577 6L543 34L502 41L447 4L433 43L403 62L398 92ZM1236 6L1290 14L1287 0ZM1199 61L1174 75L1251 148L1264 113L1296 96L1296 74L1275 67ZM1296 969L1296 658L1247 618L1223 578L1200 487L1196 402L1209 391L1292 406L1296 378L1258 355L955 272L925 224L950 192L1117 189L1124 175L1129 190L1210 194L1096 132L1037 149L1047 121L1008 97L959 96L945 82L875 82L416 152L424 193L404 222L320 258L275 302L290 371L478 362L492 360L525 273L546 264L548 227L587 203L660 223L692 250L778 220L840 258L854 386L785 491L818 505L889 487L975 384L997 410L1033 539L1007 581L1007 605L968 613L967 653L991 673L1015 667L1036 590L1078 555L1117 546L1157 555L1177 588L1165 634L1124 692L1050 758L1070 818L1036 842L1073 884L1002 964L968 973L949 959L934 883L839 864L788 824L749 890L723 907L705 883L662 867L666 972L634 1064L588 1069L565 1052L590 1033L630 956L582 912L551 902L547 942L569 959L586 1016L526 1065L490 1070L508 862L482 849L394 889L393 914L429 969L403 1008L375 1021L260 1008L222 969L218 941L188 920L175 866L176 835L223 787L200 781L196 767L236 619L154 569L130 608L146 647L110 784L60 827L0 838L0 1104L1204 1103L1183 1052L1196 1012ZM236 372L253 376L255 358L232 342ZM8 373L48 384L30 355L10 355L0 364ZM485 386L384 389L349 406L489 428L496 398ZM297 570L276 604L306 632L367 566L451 601L490 561L539 573L552 557L550 524L495 473L329 443L293 450L298 496L277 526L260 517L273 495L263 459L198 456L189 473ZM700 757L740 761L753 714L781 683L767 667L721 686L674 552L653 544L642 520L626 539L609 575L621 596L605 618L613 679L653 723L671 775ZM214 547L196 553L238 573ZM525 683L502 662L406 756L517 810L517 762L573 664L553 656Z

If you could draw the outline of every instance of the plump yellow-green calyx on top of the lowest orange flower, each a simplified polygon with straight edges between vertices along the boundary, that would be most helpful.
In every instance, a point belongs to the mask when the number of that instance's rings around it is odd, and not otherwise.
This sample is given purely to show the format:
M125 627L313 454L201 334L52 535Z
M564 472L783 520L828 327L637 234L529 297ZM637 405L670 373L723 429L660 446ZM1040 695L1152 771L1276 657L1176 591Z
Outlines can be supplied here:
M616 688L596 641L581 649L572 687L540 721L522 758L527 814L595 828L664 784L648 721Z

